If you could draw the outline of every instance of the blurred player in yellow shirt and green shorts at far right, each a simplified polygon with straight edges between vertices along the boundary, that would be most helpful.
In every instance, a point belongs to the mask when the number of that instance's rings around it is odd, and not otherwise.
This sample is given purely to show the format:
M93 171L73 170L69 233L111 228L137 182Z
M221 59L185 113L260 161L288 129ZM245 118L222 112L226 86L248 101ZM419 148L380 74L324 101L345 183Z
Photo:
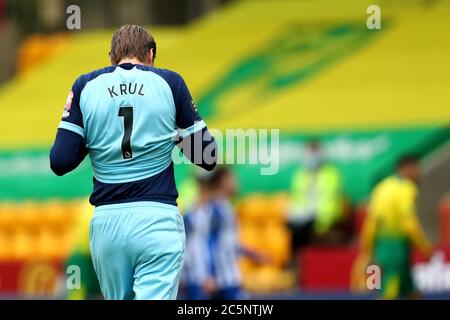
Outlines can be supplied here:
M381 296L384 299L414 297L411 251L417 248L427 257L431 254L431 243L416 212L419 177L418 159L403 157L397 173L381 181L370 199L360 259L381 268Z

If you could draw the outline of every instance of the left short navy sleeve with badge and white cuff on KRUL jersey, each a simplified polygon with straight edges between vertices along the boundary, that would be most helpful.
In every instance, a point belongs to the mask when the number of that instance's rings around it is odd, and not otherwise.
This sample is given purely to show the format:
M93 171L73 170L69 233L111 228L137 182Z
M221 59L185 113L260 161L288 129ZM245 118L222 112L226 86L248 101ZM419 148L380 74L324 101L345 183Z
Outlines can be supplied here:
M83 115L80 109L80 95L83 86L80 78L72 86L72 90L67 96L66 104L62 114L59 129L72 131L84 138Z

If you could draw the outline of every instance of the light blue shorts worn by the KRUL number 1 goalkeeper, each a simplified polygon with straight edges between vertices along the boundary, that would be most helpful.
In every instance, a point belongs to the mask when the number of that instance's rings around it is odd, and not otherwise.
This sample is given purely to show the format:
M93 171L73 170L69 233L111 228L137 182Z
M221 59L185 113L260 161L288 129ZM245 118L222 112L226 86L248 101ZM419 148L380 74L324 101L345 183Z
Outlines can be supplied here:
M158 202L97 207L89 239L105 299L176 299L186 243L177 207Z

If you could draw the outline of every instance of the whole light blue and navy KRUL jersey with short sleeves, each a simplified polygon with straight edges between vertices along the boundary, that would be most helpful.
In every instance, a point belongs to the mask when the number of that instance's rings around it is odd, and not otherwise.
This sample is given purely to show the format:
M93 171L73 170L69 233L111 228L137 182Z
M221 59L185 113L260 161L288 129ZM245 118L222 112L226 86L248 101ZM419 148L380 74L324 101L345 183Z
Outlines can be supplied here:
M59 126L86 142L94 171L90 201L96 206L176 205L175 140L205 127L180 75L131 63L79 77Z

